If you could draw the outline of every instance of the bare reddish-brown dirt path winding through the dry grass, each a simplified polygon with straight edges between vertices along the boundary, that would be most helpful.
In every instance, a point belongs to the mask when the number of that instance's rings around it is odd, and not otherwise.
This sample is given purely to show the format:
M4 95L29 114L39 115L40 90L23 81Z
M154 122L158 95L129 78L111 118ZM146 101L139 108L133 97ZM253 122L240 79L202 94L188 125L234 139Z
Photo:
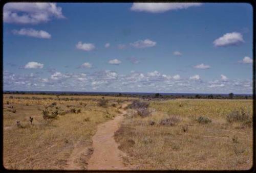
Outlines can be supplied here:
M122 105L122 108L125 106ZM114 139L114 133L120 126L123 114L126 113L125 110L121 111L121 115L98 126L92 138L94 152L88 162L88 170L126 169L121 157L123 153L118 149L118 144Z

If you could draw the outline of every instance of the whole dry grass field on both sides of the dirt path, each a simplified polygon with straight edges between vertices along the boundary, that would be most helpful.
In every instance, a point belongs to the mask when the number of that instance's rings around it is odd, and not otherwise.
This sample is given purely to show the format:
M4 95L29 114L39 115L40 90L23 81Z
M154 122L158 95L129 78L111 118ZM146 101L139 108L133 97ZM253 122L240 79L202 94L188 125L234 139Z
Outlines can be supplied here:
M106 101L100 105L102 100ZM73 159L81 169L87 169L97 125L120 115L121 106L134 100L4 94L4 166L69 169ZM220 170L252 166L252 100L176 99L147 103L145 116L127 107L115 133L119 150L126 154L123 162L127 167ZM44 110L52 115L58 111L58 115L44 119ZM19 127L16 121L20 121ZM77 150L79 157L75 157Z

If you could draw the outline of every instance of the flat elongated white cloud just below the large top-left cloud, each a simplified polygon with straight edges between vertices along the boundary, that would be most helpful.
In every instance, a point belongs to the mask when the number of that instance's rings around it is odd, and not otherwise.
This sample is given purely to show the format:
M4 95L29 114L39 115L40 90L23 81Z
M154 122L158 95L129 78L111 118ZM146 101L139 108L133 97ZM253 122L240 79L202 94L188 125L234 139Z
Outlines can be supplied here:
M30 29L20 29L20 30L13 30L12 31L13 34L16 34L16 35L24 35L24 36L28 36L28 37L36 37L36 38L51 38L51 34L49 34L48 32L46 31L37 31L37 30L34 30L32 28Z

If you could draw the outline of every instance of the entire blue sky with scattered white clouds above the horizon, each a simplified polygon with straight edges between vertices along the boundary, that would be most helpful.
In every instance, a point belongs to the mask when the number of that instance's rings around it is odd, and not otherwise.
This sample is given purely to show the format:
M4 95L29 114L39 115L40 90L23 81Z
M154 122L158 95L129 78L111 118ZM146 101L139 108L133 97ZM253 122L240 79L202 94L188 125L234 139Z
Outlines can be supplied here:
M8 3L4 90L252 93L246 3Z

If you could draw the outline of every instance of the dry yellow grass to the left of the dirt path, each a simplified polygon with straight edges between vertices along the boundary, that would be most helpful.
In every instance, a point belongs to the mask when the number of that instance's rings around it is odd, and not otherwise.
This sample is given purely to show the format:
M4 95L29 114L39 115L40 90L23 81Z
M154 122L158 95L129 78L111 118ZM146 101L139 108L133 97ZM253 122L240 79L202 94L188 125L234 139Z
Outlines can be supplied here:
M115 101L114 97L105 96L109 103L104 108L97 105L101 96L78 96L79 100L70 100L71 97L63 96L69 98L65 101L57 100L54 95L4 95L4 166L7 169L66 169L75 147L81 147L82 151L78 158L72 159L80 169L87 168L93 151L91 138L98 123L118 115L118 107L126 98L118 97ZM56 107L59 113L74 108L80 109L81 113L67 112L46 121L42 118L42 110L53 102L57 105L49 108L52 111ZM32 125L29 116L33 117ZM20 120L23 128L17 127L16 120Z

